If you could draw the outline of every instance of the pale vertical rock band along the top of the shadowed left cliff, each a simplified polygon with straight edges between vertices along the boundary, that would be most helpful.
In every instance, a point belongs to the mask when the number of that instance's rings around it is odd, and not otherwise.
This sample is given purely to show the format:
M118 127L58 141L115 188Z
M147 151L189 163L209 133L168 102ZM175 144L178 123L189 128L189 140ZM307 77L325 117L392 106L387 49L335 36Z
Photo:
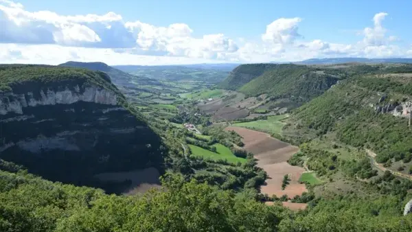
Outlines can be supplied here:
M75 102L94 102L98 104L117 105L117 95L113 91L98 86L86 87L80 93L80 87L74 91L68 87L64 91L40 91L41 97L36 99L32 92L26 94L0 93L0 115L14 112L23 114L23 107L45 106L54 104L72 104Z

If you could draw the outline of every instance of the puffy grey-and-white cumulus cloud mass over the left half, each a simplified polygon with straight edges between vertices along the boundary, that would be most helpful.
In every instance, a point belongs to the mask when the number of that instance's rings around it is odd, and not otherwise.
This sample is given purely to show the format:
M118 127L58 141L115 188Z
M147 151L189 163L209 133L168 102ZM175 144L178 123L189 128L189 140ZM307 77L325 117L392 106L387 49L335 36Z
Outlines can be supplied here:
M50 11L29 12L23 5L0 0L0 43L57 44L99 47L133 54L218 58L238 49L223 34L194 38L185 23L158 27L141 21L124 22L114 12L62 16Z

